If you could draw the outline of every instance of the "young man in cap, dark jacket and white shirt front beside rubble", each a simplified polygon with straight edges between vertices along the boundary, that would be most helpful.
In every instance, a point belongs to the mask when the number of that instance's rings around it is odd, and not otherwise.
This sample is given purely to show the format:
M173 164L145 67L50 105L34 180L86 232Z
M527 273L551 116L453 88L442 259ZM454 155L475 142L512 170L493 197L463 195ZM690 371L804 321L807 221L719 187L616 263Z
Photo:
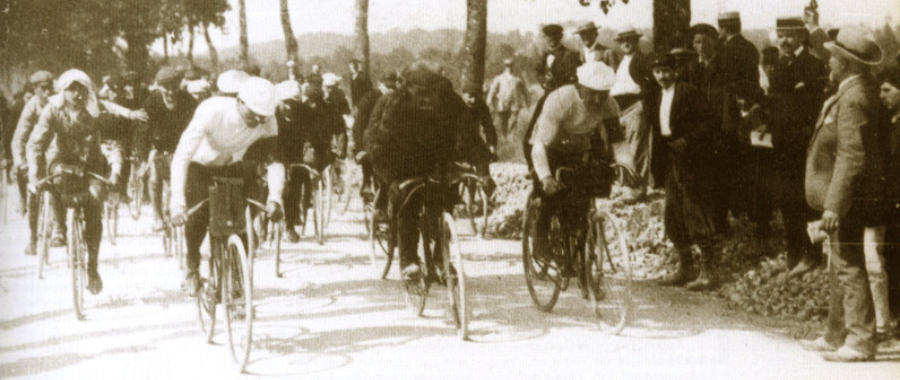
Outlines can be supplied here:
M650 170L657 185L666 190L666 236L680 258L678 271L659 282L664 286L685 286L704 290L714 286L712 238L715 168L710 141L713 112L694 86L675 81L675 57L662 54L654 59L653 76L661 90L648 98L647 116L652 130L653 152ZM691 246L700 248L700 271L695 271Z

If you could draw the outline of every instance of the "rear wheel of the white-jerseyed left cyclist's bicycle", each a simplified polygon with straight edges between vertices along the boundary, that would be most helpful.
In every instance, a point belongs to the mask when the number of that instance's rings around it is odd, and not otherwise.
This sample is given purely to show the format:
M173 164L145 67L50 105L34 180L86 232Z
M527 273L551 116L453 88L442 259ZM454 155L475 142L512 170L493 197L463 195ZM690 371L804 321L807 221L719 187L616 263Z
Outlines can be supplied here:
M200 321L200 332L206 337L206 342L213 343L213 334L216 330L216 305L222 294L222 251L224 250L221 239L215 238L209 244L209 260L207 260L206 276L204 268L200 270L200 293L197 295L197 317Z

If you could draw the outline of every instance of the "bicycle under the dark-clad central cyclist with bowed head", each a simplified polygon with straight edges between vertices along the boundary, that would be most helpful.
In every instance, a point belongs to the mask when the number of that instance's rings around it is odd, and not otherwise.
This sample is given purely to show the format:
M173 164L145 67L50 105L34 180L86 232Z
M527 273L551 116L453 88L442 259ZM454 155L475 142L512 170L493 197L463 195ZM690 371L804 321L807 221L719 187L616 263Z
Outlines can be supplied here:
M462 257L462 249L459 243L459 236L454 227L453 215L442 209L445 196L444 189L458 186L462 181L461 177L452 180L446 179L445 176L426 176L408 179L400 184L400 193L406 194L404 200L400 203L396 212L390 216L391 224L397 226L397 229L390 228L391 249L387 252L387 263L385 273L390 270L391 262L395 249L394 243L399 240L399 217L398 215L405 207L410 207L409 202L416 194L425 197L420 213L419 223L417 226L419 239L418 244L418 263L421 265L422 276L415 281L404 281L406 290L406 302L416 315L421 316L425 310L425 304L428 293L433 283L443 282L447 286L447 297L450 301L451 317L456 326L457 336L462 340L468 340L469 337L469 321L471 320L472 311L467 304L466 293L466 276L465 266ZM449 187L448 187L449 186ZM434 254L440 247L442 261L442 276L436 274L434 267ZM451 264L452 263L452 264ZM455 266L455 271L453 267ZM441 278L439 278L441 277Z

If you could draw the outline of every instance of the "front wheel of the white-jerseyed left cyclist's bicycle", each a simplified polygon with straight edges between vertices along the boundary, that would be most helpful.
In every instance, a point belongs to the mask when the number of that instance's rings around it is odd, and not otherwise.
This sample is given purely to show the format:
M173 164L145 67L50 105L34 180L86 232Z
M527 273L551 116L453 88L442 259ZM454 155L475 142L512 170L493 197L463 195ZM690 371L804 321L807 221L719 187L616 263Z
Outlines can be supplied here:
M244 372L253 343L253 264L237 235L228 238L226 249L222 299L225 301L228 348Z

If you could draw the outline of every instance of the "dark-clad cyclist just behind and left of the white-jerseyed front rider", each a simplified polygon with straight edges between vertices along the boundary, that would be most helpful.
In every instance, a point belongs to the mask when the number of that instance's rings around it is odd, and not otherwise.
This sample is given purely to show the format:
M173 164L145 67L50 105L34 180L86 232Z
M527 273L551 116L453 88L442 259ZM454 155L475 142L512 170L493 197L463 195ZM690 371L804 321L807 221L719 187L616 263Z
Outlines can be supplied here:
M161 231L164 228L163 216L163 181L169 179L169 166L172 164L172 153L178 146L178 138L191 122L197 102L179 88L181 75L172 67L163 67L156 73L156 87L154 92L144 103L147 111L147 143L154 159L150 162L150 201L153 203L155 213L153 230Z

